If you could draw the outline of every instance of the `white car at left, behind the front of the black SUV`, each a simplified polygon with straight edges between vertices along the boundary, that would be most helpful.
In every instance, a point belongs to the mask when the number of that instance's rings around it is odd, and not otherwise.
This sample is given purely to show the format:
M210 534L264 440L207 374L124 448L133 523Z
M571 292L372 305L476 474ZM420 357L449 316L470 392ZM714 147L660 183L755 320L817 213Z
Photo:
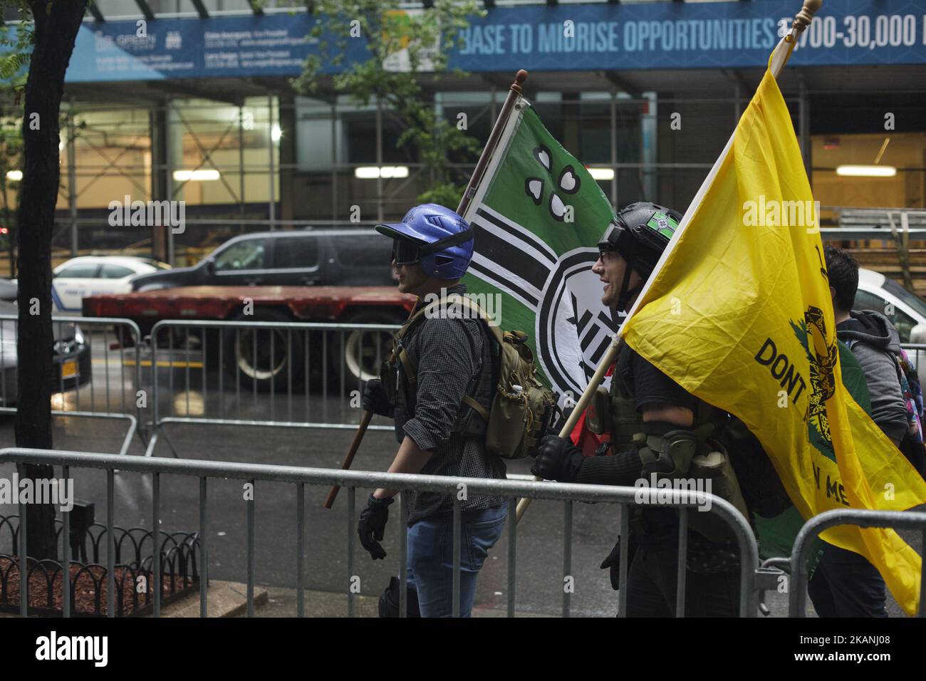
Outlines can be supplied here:
M130 256L81 256L58 265L53 271L52 303L55 311L80 314L86 296L129 293L131 278L169 270L163 262Z

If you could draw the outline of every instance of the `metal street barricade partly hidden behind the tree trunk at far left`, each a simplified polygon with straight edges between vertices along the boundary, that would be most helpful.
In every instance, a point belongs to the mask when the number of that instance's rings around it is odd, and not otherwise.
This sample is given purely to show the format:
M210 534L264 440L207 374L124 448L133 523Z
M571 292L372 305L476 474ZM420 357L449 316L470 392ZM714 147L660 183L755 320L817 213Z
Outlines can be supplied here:
M56 366L52 414L129 422L119 454L128 452L136 433L144 443L142 407L136 395L142 384L138 325L108 317L53 316L52 328ZM17 410L13 405L19 390L18 337L18 316L0 315L0 413ZM127 339L132 345L128 357L126 350L114 349ZM101 371L94 371L99 367Z

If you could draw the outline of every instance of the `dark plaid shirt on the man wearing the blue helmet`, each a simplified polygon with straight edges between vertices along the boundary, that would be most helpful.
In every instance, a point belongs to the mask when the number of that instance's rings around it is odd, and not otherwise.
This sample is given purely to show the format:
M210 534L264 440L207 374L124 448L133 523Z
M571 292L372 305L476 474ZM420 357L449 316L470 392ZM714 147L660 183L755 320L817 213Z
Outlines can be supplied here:
M466 285L447 289L448 294L465 294ZM420 322L407 334L403 345L418 367L415 406L406 404L400 385L396 396L395 434L401 441L409 435L419 448L432 452L422 475L458 475L476 478L506 476L505 462L485 448L484 437L452 433L460 403L471 380L482 371L482 348L491 343L483 322L477 319L433 317ZM405 418L405 417L409 418ZM408 492L408 525L423 518L453 512L451 495L437 492ZM460 503L462 511L501 506L503 497L470 494Z

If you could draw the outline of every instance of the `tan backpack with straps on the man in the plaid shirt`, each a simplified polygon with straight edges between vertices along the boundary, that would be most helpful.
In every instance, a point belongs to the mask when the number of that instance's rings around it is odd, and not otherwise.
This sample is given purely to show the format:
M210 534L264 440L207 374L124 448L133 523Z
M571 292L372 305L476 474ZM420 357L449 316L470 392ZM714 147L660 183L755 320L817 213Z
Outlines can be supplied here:
M418 367L402 347L402 339L411 328L433 310L444 307L448 316L476 316L486 325L489 334L499 347L498 384L495 385L492 408L488 411L469 395L463 403L469 405L487 423L485 446L503 459L522 459L533 456L540 439L545 435L553 417L559 410L557 395L547 388L536 374L527 334L522 331L502 331L489 315L467 296L453 294L419 309L395 333L398 360L402 362L408 381L418 380Z

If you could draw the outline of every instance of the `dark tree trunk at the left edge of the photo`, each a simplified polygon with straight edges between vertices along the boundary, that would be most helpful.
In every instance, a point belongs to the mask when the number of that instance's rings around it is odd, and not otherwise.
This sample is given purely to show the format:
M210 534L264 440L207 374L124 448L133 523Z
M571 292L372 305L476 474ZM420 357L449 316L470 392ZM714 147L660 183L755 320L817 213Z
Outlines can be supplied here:
M32 0L35 44L26 81L22 121L24 162L19 189L19 401L16 444L52 448L51 250L60 175L58 110L74 41L87 0ZM26 466L30 478L50 478L51 466ZM36 560L55 559L55 507L26 507L26 552ZM66 539L67 540L67 539Z

